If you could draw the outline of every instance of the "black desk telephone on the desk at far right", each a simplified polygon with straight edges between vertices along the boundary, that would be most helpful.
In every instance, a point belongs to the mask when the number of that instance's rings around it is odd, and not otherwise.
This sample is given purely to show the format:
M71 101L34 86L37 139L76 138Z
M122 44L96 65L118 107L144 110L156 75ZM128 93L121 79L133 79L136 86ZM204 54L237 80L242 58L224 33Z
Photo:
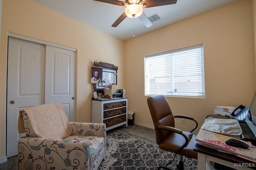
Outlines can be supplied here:
M232 110L230 115L237 120L244 120L248 116L248 119L252 121L252 111L248 106L239 105Z

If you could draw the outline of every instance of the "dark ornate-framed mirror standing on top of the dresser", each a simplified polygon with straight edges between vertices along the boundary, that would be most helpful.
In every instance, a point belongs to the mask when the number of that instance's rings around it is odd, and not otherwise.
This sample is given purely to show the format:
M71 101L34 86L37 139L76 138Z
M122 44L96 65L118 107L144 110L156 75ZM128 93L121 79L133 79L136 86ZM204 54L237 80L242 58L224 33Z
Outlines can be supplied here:
M102 84L94 84L94 91L103 91L107 84L117 84L117 70L118 66L109 63L94 61L94 66L102 67Z

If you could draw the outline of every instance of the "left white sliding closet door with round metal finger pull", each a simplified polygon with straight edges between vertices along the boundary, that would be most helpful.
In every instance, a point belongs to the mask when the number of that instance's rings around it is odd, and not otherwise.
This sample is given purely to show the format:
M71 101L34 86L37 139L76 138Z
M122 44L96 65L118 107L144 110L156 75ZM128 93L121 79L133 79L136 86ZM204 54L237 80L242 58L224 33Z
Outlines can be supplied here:
M6 156L17 155L19 110L44 104L45 45L8 39Z

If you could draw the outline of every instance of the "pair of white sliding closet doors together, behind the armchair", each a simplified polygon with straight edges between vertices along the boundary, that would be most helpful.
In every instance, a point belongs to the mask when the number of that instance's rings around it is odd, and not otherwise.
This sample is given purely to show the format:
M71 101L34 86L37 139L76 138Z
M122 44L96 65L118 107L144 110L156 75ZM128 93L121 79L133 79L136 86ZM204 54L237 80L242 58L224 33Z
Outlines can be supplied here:
M62 103L75 121L76 52L14 37L8 39L6 156L18 153L19 110Z

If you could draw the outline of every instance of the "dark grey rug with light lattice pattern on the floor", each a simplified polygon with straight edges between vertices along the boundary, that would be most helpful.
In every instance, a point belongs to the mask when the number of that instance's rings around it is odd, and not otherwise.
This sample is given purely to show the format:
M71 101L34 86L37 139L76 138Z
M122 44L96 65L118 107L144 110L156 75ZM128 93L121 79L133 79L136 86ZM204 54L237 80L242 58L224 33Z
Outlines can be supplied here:
M174 153L118 133L107 138L107 152L98 170L155 170L173 156ZM176 155L168 167L176 168L179 159ZM196 159L183 156L183 160L185 170L197 170Z

